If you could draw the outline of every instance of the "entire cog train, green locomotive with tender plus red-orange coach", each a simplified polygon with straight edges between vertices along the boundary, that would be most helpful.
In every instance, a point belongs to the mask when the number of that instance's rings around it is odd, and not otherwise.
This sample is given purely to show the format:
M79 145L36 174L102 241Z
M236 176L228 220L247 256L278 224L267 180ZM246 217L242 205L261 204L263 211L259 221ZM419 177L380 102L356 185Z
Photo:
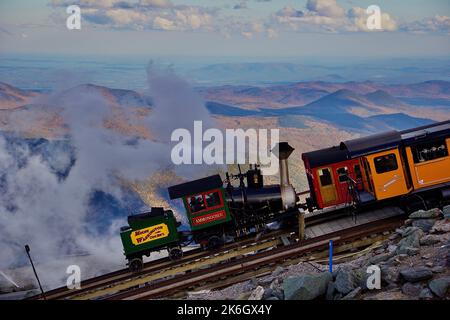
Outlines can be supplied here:
M280 183L264 185L260 168L246 173L213 175L172 186L170 199L182 199L190 231L171 210L152 208L128 217L121 229L131 271L143 266L143 255L167 250L180 259L182 247L195 241L205 249L264 230L271 222L295 223L299 211L364 208L395 201L408 206L442 206L450 200L450 121L405 131L390 131L303 153L310 187L305 203L289 181L287 142L273 150L279 159ZM232 181L237 180L238 186Z

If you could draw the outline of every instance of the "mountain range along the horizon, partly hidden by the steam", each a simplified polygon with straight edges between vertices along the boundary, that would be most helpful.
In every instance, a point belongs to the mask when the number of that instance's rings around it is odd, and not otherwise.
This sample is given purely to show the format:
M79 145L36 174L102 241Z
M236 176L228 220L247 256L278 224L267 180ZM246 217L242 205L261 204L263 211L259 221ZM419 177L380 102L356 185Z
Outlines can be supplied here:
M209 112L218 117L276 118L282 128L310 127L309 121L324 122L352 132L406 129L450 117L450 83L427 81L384 85L374 82L301 82L265 87L220 86L196 89ZM93 84L59 92L53 99L91 93L100 94L113 110L105 122L119 132L149 137L148 129L135 120L151 112L152 98L133 90ZM62 127L54 108L45 105L43 94L0 83L0 129L27 127L35 118L35 131ZM59 101L58 100L58 101ZM124 112L124 110L127 112ZM127 118L129 111L133 119ZM14 116L11 118L11 116ZM12 124L12 119L17 123ZM22 122L21 122L22 121ZM45 129L45 130L44 130Z

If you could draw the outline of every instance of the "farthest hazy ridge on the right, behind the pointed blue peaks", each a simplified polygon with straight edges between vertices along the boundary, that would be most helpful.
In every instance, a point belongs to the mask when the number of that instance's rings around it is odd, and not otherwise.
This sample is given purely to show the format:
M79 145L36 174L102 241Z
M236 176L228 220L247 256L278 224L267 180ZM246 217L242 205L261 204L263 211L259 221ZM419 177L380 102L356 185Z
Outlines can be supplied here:
M372 81L363 82L297 82L272 86L219 86L200 88L205 99L232 104L246 109L284 108L303 106L339 90L350 90L366 99L383 105L407 104L407 99L422 99L426 105L440 99L450 100L450 82L426 81L413 84L390 85ZM396 99L396 100L395 100ZM414 100L411 100L414 101ZM417 100L416 100L417 101Z

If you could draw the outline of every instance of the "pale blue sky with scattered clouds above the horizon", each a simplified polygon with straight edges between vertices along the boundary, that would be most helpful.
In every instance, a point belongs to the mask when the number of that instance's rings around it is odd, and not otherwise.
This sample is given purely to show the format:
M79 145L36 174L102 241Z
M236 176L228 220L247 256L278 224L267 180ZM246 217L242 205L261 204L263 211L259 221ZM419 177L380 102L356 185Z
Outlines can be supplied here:
M82 30L65 27L69 4ZM372 4L383 31L365 27ZM0 53L449 56L449 16L448 0L2 0Z

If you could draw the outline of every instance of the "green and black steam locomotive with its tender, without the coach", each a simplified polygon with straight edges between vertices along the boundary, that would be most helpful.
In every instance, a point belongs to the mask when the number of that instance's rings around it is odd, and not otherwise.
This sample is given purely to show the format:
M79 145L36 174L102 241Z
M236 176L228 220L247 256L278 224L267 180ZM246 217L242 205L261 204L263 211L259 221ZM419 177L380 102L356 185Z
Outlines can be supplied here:
M180 223L171 210L152 208L128 217L121 229L124 254L131 271L142 269L144 255L167 250L169 258L180 259L182 247L195 242L204 249L216 249L226 242L265 230L274 221L287 221L298 214L295 190L289 182L287 158L294 149L283 142L277 147L280 184L264 185L258 166L245 174L226 174L185 182L168 188L170 199L181 199L189 231L178 231ZM238 180L239 186L231 181Z

